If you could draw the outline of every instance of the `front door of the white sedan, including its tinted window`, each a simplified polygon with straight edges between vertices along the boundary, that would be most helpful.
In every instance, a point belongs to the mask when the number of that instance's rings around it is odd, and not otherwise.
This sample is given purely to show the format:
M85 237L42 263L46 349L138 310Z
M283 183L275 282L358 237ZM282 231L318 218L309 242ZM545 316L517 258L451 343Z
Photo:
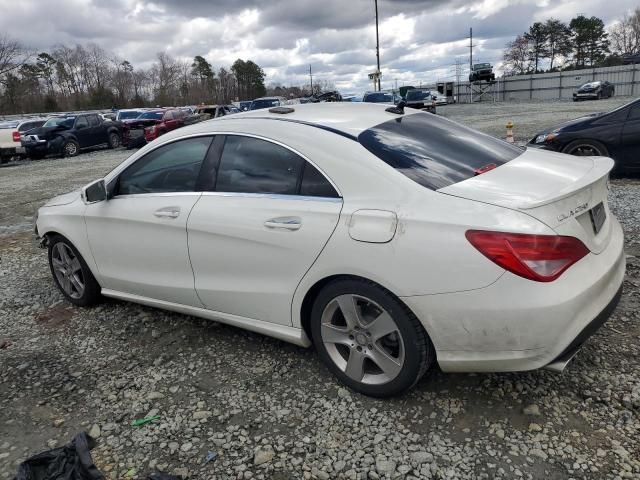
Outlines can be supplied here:
M103 288L202 307L194 290L187 218L212 137L178 140L147 153L87 207L91 251Z

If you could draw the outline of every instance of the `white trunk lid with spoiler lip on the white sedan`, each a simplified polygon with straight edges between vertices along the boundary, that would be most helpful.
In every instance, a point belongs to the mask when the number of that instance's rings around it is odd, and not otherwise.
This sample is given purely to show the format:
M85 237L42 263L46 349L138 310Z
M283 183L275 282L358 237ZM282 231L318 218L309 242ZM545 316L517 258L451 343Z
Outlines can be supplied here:
M607 192L612 168L610 158L528 149L498 168L438 192L520 210L600 253L611 230ZM594 224L602 219L600 203L606 217L596 233Z

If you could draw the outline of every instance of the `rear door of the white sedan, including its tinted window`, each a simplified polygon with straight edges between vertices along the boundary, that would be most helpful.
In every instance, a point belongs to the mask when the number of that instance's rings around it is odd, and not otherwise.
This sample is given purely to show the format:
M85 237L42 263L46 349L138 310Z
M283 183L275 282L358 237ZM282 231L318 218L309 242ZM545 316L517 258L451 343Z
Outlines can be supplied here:
M222 146L224 143L224 146ZM189 254L206 308L283 325L295 289L333 233L342 199L292 150L217 137L221 151L188 221Z

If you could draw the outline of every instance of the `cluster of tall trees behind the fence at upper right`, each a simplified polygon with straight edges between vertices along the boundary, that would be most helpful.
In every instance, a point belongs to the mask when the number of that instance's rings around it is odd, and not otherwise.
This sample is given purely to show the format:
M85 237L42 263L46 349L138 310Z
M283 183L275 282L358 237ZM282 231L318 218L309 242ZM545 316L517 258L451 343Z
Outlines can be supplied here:
M598 17L578 15L567 24L555 18L535 22L504 50L505 74L622 65L640 53L640 8L608 30Z

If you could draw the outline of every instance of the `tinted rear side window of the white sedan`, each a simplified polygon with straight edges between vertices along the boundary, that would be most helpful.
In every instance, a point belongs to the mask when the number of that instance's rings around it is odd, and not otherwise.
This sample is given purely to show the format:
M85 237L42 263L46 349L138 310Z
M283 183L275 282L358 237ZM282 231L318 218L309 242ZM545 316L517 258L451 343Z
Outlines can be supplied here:
M227 136L218 167L218 192L337 197L329 181L291 150L266 140Z

